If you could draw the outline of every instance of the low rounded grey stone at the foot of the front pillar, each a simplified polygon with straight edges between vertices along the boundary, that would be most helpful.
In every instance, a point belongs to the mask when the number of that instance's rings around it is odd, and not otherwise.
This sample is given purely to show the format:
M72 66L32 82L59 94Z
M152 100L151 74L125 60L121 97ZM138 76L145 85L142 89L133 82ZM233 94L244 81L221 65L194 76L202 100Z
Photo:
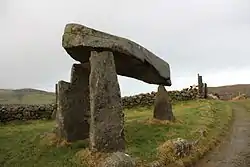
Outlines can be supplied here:
M98 167L135 167L135 161L123 152L114 152L107 157Z

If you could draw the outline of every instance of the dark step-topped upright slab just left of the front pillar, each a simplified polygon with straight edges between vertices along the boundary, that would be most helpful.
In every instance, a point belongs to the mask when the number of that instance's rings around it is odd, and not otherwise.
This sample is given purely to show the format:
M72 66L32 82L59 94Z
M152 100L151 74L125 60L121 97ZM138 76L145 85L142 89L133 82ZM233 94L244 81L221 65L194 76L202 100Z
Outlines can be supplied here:
M74 64L71 82L58 82L57 134L68 141L89 137L89 70Z

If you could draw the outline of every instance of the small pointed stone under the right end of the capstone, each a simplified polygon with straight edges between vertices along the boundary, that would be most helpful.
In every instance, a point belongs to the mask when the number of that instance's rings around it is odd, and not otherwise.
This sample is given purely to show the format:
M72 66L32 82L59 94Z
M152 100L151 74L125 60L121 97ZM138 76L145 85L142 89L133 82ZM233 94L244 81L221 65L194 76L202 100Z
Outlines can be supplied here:
M172 104L164 86L158 87L154 104L154 118L159 120L174 120Z

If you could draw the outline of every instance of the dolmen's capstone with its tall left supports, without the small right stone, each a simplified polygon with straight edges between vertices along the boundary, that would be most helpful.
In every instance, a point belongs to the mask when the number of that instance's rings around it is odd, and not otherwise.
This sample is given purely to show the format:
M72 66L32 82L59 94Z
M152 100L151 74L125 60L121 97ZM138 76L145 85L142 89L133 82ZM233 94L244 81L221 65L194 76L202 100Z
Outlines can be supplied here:
M117 75L171 86L167 62L135 42L67 24L62 46L78 63L70 82L56 86L56 134L69 142L89 138L92 151L124 151L124 114Z

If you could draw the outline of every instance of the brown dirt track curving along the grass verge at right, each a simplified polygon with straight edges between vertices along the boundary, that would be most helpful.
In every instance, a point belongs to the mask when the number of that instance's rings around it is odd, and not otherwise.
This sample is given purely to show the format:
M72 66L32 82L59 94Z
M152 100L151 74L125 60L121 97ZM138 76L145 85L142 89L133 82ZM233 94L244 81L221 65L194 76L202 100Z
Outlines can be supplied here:
M250 167L250 112L234 104L231 134L194 167Z

